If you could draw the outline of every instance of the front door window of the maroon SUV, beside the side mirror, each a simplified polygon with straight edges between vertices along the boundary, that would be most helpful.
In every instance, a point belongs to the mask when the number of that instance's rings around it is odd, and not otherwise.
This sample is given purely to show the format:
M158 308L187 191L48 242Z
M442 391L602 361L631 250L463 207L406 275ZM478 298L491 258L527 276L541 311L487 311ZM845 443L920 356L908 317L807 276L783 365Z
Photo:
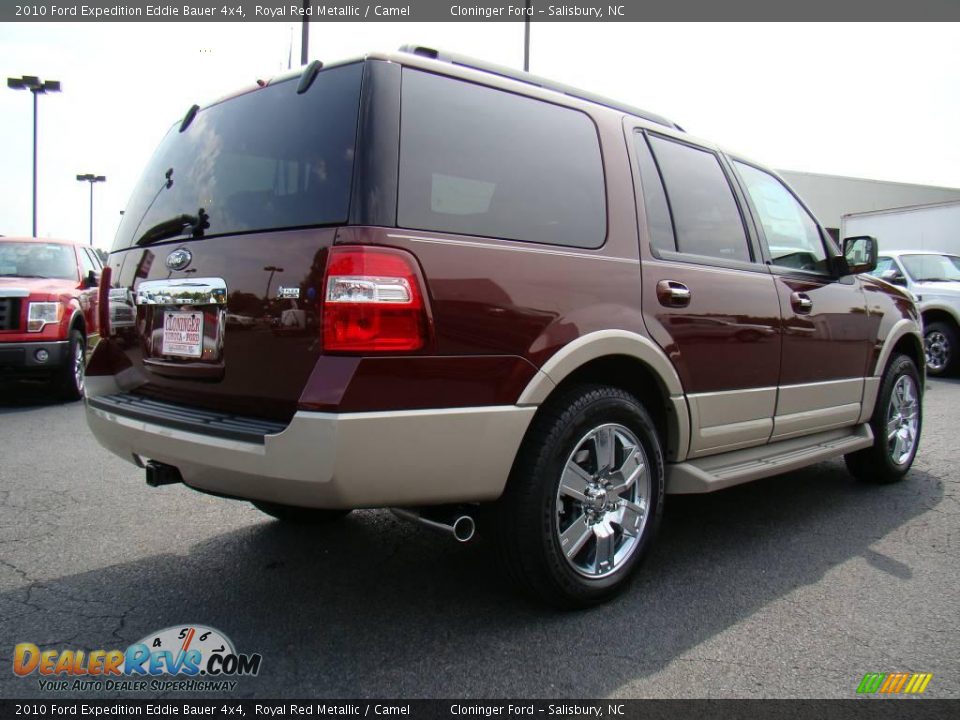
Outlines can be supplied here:
M830 267L817 224L786 186L770 173L734 161L763 226L770 262L828 274Z

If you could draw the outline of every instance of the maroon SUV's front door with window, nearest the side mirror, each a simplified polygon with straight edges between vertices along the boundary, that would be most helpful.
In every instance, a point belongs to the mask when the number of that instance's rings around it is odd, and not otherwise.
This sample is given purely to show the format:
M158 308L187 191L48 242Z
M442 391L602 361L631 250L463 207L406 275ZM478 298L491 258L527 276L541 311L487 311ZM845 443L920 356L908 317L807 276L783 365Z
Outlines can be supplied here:
M853 424L876 336L860 281L836 276L826 233L783 182L743 161L733 166L757 217L783 312L772 439Z

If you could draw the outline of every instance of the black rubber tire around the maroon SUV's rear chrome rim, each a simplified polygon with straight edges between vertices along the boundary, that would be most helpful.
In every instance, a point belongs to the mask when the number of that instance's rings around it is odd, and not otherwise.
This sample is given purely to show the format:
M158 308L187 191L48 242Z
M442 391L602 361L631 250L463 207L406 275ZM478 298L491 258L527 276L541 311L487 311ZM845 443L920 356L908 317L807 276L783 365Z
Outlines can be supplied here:
M566 423L560 432L551 437L549 447L545 447L541 455L545 462L537 472L540 483L539 526L543 539L544 560L550 566L551 575L563 586L566 593L581 596L585 601L603 596L627 580L656 535L663 507L663 454L649 415L626 393L612 388L601 389L601 392L603 395L582 407L571 418L571 422ZM575 449L575 443L578 443L590 430L607 423L619 423L629 428L640 440L646 455L648 472L651 473L651 497L648 498L647 522L638 541L638 547L631 557L611 575L591 579L580 575L570 567L561 550L556 523L556 497L563 469Z

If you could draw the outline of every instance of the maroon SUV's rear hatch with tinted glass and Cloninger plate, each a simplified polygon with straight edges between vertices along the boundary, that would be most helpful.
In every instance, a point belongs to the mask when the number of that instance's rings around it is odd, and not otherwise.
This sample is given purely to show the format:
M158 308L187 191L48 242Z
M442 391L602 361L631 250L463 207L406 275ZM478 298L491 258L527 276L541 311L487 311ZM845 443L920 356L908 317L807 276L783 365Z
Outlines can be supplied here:
M111 306L134 313L111 343L124 390L293 416L320 354L327 251L348 220L362 76L358 62L305 91L298 78L270 83L170 129L109 261Z

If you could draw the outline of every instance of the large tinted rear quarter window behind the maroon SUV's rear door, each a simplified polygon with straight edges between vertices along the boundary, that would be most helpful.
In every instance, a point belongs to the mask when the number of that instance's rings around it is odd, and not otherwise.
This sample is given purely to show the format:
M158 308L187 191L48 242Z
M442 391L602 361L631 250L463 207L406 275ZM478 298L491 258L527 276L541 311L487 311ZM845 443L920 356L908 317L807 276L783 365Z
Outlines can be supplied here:
M406 69L397 224L596 248L600 141L576 110Z

